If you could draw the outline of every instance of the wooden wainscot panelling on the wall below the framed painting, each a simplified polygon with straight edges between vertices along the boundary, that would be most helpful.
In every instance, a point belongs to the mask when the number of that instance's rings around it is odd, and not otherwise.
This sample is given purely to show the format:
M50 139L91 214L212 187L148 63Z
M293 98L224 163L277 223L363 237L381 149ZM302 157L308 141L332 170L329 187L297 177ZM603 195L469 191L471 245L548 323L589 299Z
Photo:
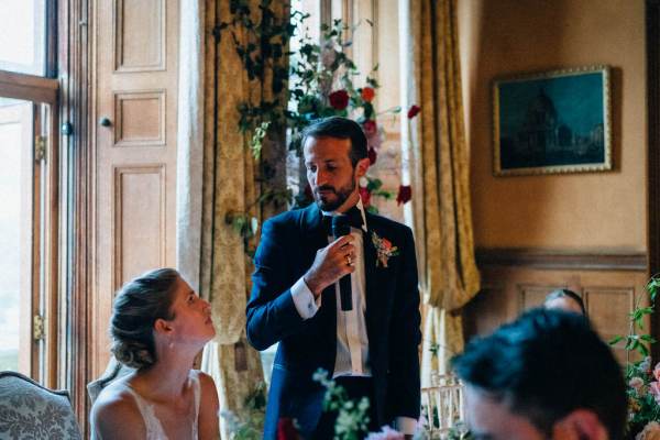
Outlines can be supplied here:
M497 253L506 254L502 250ZM605 341L627 334L628 314L635 304L648 304L647 272L640 255L521 257L512 253L499 263L491 257L477 260L483 288L464 308L466 339L488 333L524 310L541 305L556 288L569 288L582 296L594 328ZM622 262L619 266L617 261ZM614 352L619 361L626 361L620 344Z

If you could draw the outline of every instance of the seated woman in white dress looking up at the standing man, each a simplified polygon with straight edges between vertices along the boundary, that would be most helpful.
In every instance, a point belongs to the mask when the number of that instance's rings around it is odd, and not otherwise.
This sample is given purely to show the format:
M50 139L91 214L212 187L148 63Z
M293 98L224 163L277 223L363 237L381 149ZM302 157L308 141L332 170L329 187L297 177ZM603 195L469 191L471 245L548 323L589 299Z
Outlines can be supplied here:
M117 295L112 353L134 373L108 385L91 408L92 439L218 439L213 380L193 370L216 334L208 301L172 268L147 272Z

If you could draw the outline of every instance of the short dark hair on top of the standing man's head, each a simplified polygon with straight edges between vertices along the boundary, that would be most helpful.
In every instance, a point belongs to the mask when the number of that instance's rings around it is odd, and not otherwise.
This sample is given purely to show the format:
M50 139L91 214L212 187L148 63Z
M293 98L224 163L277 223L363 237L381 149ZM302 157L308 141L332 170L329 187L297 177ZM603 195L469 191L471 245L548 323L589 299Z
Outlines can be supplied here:
M329 117L317 119L307 125L301 133L301 145L305 147L305 142L308 138L336 138L351 140L351 163L353 166L358 161L367 156L366 135L360 124L351 119L342 117Z

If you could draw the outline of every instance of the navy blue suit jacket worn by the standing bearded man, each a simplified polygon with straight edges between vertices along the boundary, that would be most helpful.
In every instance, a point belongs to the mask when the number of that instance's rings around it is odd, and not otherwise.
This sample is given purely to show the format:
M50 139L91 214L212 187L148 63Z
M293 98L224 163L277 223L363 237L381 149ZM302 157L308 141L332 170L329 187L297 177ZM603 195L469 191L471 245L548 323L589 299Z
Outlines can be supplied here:
M248 302L248 339L256 350L279 342L273 365L265 439L274 439L280 417L297 419L309 437L321 415L324 389L312 381L318 369L332 375L337 352L334 286L323 290L317 314L302 320L290 288L328 245L316 205L280 213L266 222L254 257ZM378 426L395 417L419 417L421 341L417 261L413 232L404 224L366 213L364 234L369 362ZM372 232L398 248L387 267L376 267Z

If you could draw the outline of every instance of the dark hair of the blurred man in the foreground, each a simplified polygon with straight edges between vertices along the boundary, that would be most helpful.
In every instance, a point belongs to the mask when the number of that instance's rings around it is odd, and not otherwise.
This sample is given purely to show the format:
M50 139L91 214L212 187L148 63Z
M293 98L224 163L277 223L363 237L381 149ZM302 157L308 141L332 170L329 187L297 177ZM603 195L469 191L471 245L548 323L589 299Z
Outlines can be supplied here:
M491 336L473 339L452 366L465 384L548 436L556 422L580 408L597 415L609 439L624 436L622 367L581 315L531 309Z

